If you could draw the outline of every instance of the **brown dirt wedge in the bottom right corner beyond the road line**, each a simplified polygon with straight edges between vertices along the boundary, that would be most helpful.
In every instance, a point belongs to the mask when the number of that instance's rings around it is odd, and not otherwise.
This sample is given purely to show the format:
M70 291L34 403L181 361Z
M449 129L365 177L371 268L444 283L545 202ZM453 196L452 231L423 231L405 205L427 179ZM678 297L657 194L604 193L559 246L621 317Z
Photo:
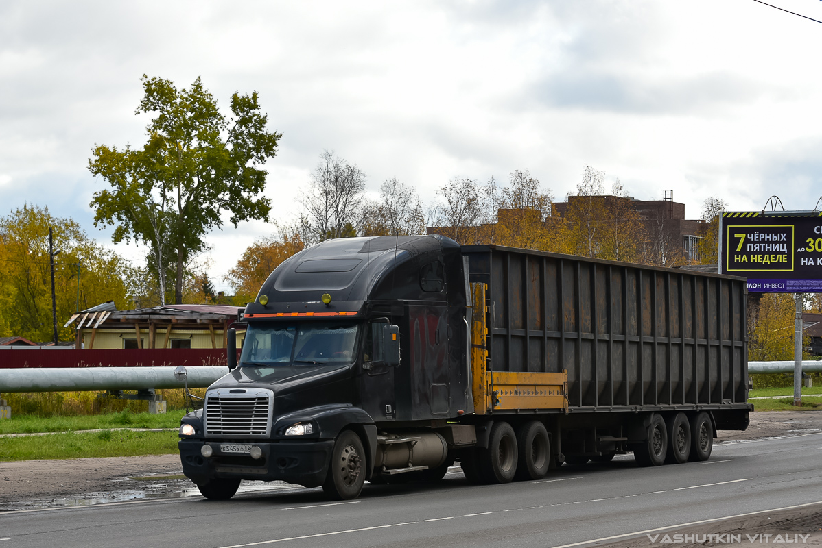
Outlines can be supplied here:
M681 537L677 537L680 535ZM754 514L743 518L703 523L698 526L654 531L642 537L609 544L602 548L709 548L710 546L822 546L822 505Z

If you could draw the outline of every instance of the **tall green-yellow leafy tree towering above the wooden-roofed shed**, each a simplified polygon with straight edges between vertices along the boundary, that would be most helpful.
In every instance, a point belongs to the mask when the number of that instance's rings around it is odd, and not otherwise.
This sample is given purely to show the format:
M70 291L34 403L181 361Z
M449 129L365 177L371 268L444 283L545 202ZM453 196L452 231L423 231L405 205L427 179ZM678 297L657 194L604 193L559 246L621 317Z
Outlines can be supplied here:
M96 145L89 169L109 189L95 192L95 226L115 226L114 243L147 244L165 302L166 262L174 269L174 302L182 303L184 267L205 247L205 235L223 226L268 220L270 199L262 168L282 137L266 129L256 92L233 94L230 116L200 78L189 89L142 77L136 114L152 116L142 148Z

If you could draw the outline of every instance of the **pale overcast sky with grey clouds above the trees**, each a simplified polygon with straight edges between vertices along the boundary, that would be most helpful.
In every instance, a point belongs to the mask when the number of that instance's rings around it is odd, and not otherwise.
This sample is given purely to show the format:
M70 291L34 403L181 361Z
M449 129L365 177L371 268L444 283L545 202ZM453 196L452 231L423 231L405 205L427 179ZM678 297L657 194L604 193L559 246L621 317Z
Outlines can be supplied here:
M819 0L769 0L822 20ZM95 144L145 143L144 73L256 90L282 132L272 219L289 221L324 148L375 193L430 202L456 176L528 169L561 199L588 164L686 216L822 195L822 24L753 0L0 3L0 214L23 203L92 223ZM227 112L227 111L224 111ZM225 272L264 222L209 236ZM118 245L138 259L144 248Z

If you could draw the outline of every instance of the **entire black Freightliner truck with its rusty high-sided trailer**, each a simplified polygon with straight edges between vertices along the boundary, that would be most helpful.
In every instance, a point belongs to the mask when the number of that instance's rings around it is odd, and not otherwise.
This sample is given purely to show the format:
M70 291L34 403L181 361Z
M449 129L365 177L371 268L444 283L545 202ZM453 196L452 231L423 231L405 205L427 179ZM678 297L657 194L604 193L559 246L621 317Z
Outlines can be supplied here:
M242 314L230 372L182 418L185 475L322 486L544 477L632 452L708 459L744 430L743 278L443 236L326 240L284 261Z

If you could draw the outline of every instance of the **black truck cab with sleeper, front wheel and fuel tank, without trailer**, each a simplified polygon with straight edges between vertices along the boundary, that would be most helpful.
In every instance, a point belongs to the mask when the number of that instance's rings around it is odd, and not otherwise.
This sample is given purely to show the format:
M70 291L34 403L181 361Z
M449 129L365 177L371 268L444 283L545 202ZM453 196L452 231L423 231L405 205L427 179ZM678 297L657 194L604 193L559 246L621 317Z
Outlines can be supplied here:
M446 421L473 411L466 287L443 236L326 240L287 259L245 308L237 366L182 420L183 472L210 498L242 479L351 498L375 470L442 468Z

